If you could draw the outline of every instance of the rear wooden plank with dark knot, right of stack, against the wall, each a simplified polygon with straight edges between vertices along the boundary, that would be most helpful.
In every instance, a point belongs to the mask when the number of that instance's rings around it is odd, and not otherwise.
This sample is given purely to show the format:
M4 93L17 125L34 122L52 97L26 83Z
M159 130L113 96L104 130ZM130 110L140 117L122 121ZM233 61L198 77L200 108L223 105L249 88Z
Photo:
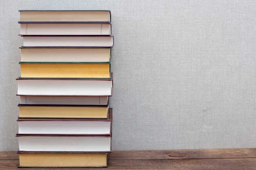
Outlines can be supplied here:
M254 158L256 148L195 150L128 150L112 151L109 159L209 159Z

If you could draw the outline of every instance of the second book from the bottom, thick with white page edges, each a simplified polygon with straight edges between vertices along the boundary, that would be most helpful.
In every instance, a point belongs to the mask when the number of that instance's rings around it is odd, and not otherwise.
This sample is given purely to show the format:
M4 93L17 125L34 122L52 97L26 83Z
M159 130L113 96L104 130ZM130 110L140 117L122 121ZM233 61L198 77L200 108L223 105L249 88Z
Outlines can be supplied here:
M16 134L20 151L111 152L107 135L26 135Z

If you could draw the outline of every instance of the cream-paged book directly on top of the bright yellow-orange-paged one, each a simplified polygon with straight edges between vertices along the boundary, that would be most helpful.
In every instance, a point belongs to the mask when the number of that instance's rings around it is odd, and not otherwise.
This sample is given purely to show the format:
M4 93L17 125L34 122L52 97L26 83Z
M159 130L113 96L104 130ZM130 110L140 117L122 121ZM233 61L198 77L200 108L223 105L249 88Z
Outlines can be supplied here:
M20 62L110 62L111 48L20 47Z

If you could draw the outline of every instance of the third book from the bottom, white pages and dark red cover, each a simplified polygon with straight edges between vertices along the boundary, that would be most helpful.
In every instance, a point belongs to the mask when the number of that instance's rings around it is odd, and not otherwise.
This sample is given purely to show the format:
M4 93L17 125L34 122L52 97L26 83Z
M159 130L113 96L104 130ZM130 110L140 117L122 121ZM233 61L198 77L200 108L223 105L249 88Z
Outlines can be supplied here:
M18 118L19 134L110 135L112 112L107 119Z

